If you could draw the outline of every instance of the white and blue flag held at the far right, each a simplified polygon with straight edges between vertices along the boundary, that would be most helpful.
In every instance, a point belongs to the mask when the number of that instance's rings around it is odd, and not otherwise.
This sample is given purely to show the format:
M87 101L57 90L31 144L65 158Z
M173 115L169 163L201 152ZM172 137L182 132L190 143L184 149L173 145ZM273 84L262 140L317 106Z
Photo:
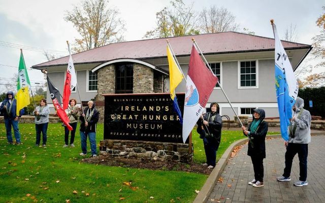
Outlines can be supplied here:
M283 140L287 141L289 119L292 118L292 108L298 96L298 82L294 75L288 56L281 44L276 26L275 38L275 89L280 115L280 131Z

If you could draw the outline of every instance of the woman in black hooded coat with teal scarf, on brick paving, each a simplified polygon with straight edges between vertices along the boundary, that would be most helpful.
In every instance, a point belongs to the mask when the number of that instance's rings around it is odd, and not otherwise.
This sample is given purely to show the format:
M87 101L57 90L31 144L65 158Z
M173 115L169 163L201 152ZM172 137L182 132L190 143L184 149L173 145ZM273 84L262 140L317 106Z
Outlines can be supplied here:
M265 111L263 109L255 109L253 111L253 120L249 124L248 129L242 126L244 135L249 138L248 152L253 168L254 179L248 182L253 187L262 187L264 178L263 159L266 157L265 153L265 137L268 132L268 123L264 121Z

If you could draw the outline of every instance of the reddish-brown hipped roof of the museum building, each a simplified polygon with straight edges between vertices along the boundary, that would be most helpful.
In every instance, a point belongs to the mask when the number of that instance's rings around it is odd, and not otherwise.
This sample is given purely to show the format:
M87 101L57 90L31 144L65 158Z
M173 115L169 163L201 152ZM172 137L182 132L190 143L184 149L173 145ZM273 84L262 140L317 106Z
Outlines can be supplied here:
M219 32L203 35L139 40L113 43L103 47L73 54L75 64L105 62L118 58L159 58L166 57L168 39L176 56L189 55L194 38L205 54L232 53L247 51L274 50L274 39L253 36L239 32ZM285 49L310 48L310 45L282 41ZM56 66L68 64L69 56L40 63L32 67Z

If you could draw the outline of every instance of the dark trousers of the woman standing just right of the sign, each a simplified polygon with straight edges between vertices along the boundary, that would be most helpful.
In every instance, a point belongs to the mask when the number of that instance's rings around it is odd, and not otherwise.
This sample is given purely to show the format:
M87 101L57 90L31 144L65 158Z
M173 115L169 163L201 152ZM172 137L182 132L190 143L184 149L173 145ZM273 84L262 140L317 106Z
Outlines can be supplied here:
M215 166L215 159L217 158L217 150L220 145L220 138L203 138L205 156L207 157L207 164Z

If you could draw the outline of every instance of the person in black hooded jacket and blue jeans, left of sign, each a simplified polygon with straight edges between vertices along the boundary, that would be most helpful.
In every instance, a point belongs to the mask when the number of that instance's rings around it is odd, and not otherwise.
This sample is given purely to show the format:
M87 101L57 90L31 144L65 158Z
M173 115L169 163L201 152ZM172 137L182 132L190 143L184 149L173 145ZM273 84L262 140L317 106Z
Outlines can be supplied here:
M88 101L88 107L85 108L80 119L80 138L81 138L81 156L87 154L87 136L89 137L91 156L97 156L96 150L96 125L100 117L100 112L95 109L92 100Z

